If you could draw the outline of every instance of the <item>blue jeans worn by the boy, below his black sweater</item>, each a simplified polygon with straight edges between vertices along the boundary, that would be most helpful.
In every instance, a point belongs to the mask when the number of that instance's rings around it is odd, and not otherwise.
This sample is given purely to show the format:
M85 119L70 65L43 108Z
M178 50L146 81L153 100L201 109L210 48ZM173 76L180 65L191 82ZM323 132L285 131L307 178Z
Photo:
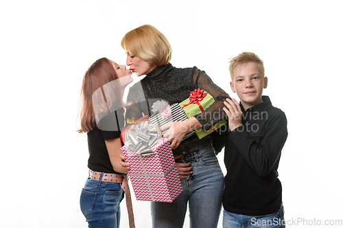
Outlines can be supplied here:
M265 227L265 228L284 228L285 218L283 205L280 210L274 214L263 216L246 216L242 214L233 214L224 210L223 227L224 228L245 228L245 227Z

